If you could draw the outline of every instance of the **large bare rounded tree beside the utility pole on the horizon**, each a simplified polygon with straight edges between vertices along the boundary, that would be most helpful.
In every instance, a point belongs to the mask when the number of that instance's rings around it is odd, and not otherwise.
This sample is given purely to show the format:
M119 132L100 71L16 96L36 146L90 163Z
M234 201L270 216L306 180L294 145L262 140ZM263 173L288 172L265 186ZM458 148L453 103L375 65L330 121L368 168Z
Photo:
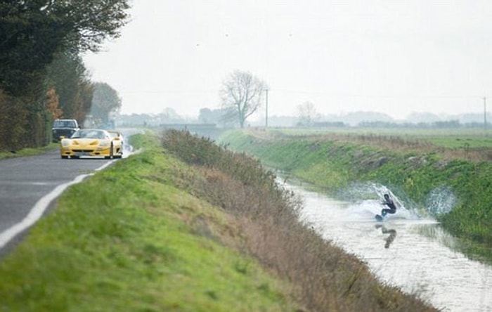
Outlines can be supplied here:
M220 91L222 108L227 110L227 119L237 119L241 128L247 117L261 107L267 86L250 72L235 70L224 80Z

